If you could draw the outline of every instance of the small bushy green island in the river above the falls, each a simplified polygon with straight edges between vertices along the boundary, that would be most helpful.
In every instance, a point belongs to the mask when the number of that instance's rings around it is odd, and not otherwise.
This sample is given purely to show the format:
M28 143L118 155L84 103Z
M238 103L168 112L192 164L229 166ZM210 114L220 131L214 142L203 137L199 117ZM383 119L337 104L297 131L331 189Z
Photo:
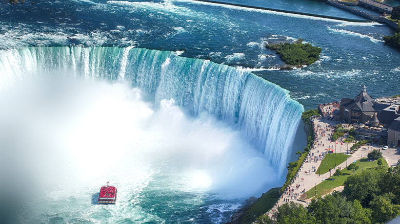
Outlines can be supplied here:
M319 59L322 49L312 47L309 43L302 43L298 39L296 43L272 43L266 44L266 48L275 50L281 59L291 65L310 65Z

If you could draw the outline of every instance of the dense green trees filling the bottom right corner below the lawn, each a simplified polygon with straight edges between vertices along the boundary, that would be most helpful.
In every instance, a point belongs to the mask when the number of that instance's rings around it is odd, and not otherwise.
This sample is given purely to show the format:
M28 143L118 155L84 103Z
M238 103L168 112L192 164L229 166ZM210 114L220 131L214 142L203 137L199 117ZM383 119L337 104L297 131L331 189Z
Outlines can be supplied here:
M400 167L383 165L351 175L343 192L312 199L309 206L290 202L277 209L276 220L267 215L257 223L386 223L400 215Z

